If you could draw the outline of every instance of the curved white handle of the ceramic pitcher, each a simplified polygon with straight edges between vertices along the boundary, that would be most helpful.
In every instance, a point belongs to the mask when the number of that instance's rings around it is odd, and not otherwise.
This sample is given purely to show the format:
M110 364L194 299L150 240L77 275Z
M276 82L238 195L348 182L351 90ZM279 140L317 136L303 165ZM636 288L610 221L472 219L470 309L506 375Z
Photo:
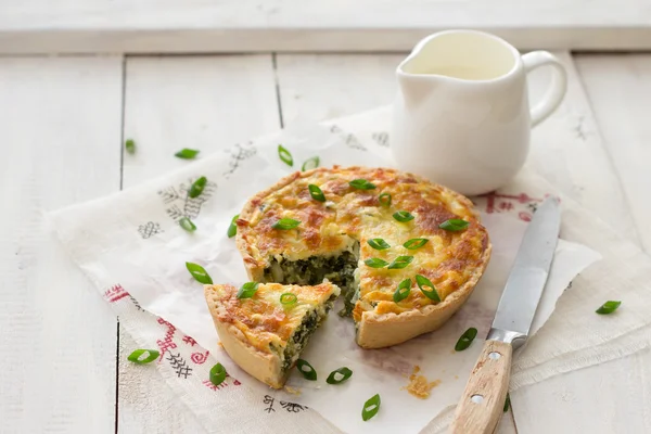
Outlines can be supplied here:
M540 101L531 111L532 127L540 124L558 108L567 90L567 73L563 63L549 51L532 51L522 55L525 73L549 65L553 67L551 84Z

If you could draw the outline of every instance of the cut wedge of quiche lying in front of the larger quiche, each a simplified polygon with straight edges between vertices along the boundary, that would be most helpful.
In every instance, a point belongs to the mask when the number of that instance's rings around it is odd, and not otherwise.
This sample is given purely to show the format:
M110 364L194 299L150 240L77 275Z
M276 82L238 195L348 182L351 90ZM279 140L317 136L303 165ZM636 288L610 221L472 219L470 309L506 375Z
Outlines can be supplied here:
M238 291L229 284L204 286L219 340L240 368L282 388L340 289L329 282L314 286L264 283L250 298L238 298Z

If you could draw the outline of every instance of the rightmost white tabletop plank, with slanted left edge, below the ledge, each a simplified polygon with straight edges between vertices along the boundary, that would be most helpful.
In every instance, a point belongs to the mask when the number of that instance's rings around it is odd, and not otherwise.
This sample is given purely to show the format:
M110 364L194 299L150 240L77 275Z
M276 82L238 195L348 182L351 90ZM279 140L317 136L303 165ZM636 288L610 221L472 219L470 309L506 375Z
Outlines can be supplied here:
M641 244L651 252L651 54L579 55L576 63Z

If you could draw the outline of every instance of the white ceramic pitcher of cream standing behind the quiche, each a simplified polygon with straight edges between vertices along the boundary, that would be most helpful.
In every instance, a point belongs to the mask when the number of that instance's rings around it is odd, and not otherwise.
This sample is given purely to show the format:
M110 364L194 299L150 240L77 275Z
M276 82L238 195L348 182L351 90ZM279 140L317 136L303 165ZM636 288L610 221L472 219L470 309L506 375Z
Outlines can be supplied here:
M526 73L553 67L531 111ZM531 128L561 103L562 63L547 51L520 55L483 31L447 30L421 40L397 67L392 151L400 169L462 194L494 191L523 166Z

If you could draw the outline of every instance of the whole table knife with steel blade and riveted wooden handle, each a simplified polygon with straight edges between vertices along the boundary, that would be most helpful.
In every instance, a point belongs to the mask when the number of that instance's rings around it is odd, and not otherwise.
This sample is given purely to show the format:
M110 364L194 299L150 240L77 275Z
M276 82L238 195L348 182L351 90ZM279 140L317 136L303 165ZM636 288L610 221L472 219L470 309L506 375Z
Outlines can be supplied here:
M559 202L548 197L524 232L484 348L457 405L451 433L489 434L497 426L509 390L511 356L528 336L560 227Z

